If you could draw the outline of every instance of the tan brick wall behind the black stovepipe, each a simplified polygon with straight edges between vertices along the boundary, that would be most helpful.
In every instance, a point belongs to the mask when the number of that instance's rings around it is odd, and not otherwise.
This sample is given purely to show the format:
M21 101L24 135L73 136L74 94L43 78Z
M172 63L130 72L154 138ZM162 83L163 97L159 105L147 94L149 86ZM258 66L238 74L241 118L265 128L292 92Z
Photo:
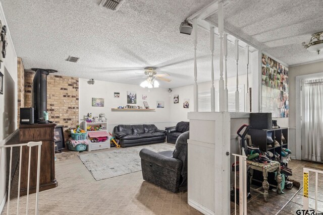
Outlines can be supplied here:
M31 87L34 73L25 72L25 107L31 106ZM63 125L65 141L67 129L78 125L79 118L79 80L74 77L47 77L47 111L49 120Z

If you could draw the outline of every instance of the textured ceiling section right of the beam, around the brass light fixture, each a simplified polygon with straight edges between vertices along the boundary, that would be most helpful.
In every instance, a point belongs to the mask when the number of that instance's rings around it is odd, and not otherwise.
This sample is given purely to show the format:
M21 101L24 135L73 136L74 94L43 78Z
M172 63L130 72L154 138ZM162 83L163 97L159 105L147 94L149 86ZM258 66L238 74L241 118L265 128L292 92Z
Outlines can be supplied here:
M322 0L236 0L224 10L225 29L289 65L323 59L302 46L323 31ZM218 23L218 13L207 19Z

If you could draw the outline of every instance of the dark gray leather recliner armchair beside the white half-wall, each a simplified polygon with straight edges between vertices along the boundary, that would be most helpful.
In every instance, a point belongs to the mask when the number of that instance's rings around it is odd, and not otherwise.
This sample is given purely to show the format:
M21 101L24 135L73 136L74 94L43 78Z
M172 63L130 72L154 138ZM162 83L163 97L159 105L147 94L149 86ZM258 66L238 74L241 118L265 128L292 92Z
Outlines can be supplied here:
M139 156L143 179L172 192L186 191L188 138L189 131L182 133L174 151L155 153L142 149Z

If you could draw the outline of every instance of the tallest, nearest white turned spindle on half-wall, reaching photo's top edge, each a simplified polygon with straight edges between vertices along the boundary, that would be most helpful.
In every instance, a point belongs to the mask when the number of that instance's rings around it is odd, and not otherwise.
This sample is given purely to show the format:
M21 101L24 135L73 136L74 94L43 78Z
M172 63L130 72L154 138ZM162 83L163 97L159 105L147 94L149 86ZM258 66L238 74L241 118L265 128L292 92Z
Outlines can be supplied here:
M224 12L223 2L219 2L218 9L218 23L219 23L219 36L220 36L220 80L219 80L219 110L225 111L224 100L224 80L223 80L223 29L224 29Z

